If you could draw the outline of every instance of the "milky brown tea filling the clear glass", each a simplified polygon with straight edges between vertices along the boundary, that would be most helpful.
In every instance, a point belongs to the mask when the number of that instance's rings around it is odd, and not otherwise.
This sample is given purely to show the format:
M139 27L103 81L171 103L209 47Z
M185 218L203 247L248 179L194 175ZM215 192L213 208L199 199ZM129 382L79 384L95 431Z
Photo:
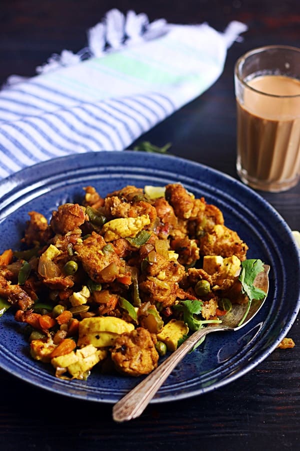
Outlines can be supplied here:
M246 84L236 99L237 171L254 187L290 187L300 178L300 81L259 75Z

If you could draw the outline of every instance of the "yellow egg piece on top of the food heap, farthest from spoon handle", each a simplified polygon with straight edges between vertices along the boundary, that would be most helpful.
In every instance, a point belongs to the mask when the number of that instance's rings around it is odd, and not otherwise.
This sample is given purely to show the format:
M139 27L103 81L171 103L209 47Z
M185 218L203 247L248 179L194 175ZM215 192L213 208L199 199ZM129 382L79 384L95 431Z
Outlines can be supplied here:
M150 223L148 214L142 214L137 217L119 217L111 219L102 227L104 233L104 240L106 242L118 240L119 238L132 237L134 238L145 225Z

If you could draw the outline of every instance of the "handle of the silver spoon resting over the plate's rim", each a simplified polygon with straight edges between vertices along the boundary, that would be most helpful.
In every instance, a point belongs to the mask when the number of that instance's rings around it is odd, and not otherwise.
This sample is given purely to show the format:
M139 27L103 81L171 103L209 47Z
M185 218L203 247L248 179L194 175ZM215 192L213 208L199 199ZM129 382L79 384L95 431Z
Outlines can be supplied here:
M114 405L114 421L128 421L139 416L185 354L206 334L224 329L224 326L205 327L188 337L176 351Z

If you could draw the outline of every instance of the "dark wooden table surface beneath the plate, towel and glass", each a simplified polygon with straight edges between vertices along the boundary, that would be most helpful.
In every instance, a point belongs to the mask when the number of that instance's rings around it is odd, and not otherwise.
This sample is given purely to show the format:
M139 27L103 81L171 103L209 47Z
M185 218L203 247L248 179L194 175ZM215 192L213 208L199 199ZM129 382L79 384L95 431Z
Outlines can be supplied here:
M64 48L78 51L85 45L86 30L112 7L145 12L151 21L206 21L219 31L231 20L248 25L243 42L228 50L219 80L138 139L156 145L171 142L175 155L236 177L234 61L260 45L300 47L298 0L2 0L0 82L10 74L34 75L36 66ZM300 228L300 185L262 196L292 230ZM0 449L299 449L297 321L288 336L295 341L293 349L275 350L235 382L202 396L151 404L140 418L122 424L112 421L111 405L64 398L0 370Z

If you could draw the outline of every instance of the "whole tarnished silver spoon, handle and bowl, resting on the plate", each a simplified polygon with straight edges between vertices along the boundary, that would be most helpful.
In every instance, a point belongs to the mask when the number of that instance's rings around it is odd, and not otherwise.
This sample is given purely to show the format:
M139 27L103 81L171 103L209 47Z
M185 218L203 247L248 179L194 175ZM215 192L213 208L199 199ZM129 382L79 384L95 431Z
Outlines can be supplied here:
M253 319L262 307L268 292L268 272L270 267L263 265L263 268L264 271L257 274L253 285L263 290L265 297L260 300L252 300L250 308L248 303L233 304L230 312L227 312L222 317L221 324L206 326L190 335L154 371L113 406L112 417L114 421L128 421L139 416L176 365L205 335L212 332L235 331L244 327Z

